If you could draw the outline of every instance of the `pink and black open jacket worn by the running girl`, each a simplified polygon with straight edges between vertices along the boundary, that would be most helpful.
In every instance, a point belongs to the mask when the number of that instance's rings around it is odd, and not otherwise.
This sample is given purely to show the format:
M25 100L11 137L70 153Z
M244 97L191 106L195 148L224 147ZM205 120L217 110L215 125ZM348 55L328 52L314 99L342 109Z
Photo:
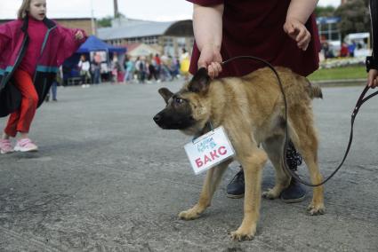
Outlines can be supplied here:
M39 96L40 106L60 65L71 56L84 39L76 41L78 29L63 28L49 19L43 20L48 28L44 37L41 55L37 61L33 80ZM13 20L0 25L0 117L12 113L20 106L20 91L12 83L12 74L20 65L28 46L28 18Z

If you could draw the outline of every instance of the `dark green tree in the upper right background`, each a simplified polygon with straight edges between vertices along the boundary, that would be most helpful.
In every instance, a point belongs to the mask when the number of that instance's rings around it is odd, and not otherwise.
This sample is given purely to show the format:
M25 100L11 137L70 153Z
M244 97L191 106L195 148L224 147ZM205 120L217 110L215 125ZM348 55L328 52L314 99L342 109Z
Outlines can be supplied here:
M340 5L334 12L340 17L339 28L342 38L350 33L369 32L370 17L366 0L351 0Z

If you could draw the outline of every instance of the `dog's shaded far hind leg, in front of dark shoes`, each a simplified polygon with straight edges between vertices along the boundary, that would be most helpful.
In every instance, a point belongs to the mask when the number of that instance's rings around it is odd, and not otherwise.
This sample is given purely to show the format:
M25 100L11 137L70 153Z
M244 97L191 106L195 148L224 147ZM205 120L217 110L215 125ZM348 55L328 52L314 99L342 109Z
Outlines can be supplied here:
M276 184L273 188L269 188L267 192L262 193L262 197L269 200L277 199L282 191L290 184L290 177L286 174L282 166L281 156L283 145L284 137L278 135L268 138L262 143L264 150L269 156L269 160L276 170Z

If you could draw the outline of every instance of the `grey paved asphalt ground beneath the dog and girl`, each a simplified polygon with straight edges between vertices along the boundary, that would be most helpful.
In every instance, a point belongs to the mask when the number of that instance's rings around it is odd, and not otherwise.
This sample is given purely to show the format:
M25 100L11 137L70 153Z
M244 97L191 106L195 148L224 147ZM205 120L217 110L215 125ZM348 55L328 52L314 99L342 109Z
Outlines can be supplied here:
M204 176L189 167L189 138L152 122L162 86L181 83L60 88L59 102L39 109L31 138L40 151L0 156L0 251L378 250L377 98L358 115L350 156L326 185L326 215L306 215L310 195L263 200L257 236L236 242L228 233L241 223L243 200L226 198L225 186L237 163L203 217L177 217L197 201ZM314 102L325 175L342 158L361 90L324 88ZM264 188L273 176L269 164Z

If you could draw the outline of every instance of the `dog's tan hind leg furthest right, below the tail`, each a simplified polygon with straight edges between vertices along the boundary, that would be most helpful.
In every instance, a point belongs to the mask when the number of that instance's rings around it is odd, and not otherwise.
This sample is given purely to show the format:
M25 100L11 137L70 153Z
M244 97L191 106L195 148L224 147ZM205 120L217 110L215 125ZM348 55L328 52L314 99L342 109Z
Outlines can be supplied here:
M298 136L298 138L292 138L294 146L302 154L303 160L309 168L311 183L319 184L323 177L318 168L318 135L314 128L310 107L295 109L291 120L291 125ZM312 201L308 211L310 215L325 213L323 185L313 188Z

